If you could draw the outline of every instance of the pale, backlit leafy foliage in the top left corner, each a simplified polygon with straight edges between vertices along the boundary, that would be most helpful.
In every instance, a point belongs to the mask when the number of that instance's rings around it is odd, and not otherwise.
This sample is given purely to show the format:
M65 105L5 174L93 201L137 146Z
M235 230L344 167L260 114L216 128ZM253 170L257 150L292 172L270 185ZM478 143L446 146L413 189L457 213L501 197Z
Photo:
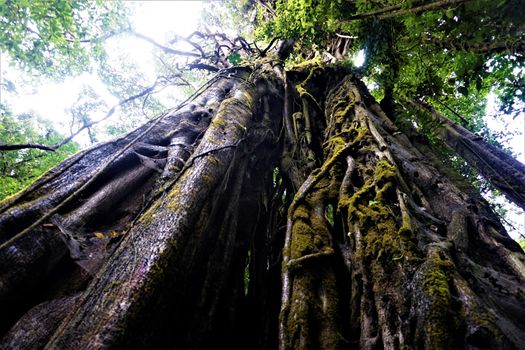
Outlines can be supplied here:
M86 70L104 38L126 26L121 1L0 0L0 48L48 76Z

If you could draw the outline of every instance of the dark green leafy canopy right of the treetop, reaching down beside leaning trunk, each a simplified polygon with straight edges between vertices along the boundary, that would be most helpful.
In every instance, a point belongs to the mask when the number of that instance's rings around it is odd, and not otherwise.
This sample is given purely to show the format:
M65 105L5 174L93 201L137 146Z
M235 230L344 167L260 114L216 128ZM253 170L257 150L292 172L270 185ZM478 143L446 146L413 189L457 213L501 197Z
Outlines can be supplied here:
M489 129L486 108L495 96L501 124L523 118L525 7L518 0L459 3L278 0L272 11L259 7L257 35L295 40L294 63L337 57L352 67L362 50L364 65L352 69L385 113L402 131L415 127L425 135L443 162L492 202L499 190L445 145L441 124L412 102L424 101L511 154L502 142L512 135ZM505 213L497 201L492 205Z

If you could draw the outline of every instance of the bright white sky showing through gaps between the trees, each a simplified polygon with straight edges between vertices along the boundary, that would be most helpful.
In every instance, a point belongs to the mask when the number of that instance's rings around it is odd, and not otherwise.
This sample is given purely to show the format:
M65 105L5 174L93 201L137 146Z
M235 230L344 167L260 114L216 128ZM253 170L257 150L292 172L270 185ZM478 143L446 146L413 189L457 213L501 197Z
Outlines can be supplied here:
M188 36L197 29L201 19L202 3L200 1L129 1L127 4L132 9L130 17L132 26L136 32L144 34L159 43L167 43L174 34ZM151 44L134 37L116 37L106 42L106 49L111 56L114 54L125 55L130 61L136 63L143 72L146 80L153 82L156 78L154 70L154 55ZM364 61L363 52L359 52L354 63L361 65ZM35 112L44 118L52 120L58 129L67 134L64 125L69 120L67 108L78 98L78 93L83 85L89 85L104 100L107 109L118 103L118 99L111 95L106 86L94 74L84 73L75 78L67 78L62 83L43 82L40 86L24 84L27 80L20 72L10 68L6 57L0 58L0 69L3 77L21 82L17 84L18 94L9 94L3 91L0 101L7 103L15 114ZM161 96L162 98L163 96ZM165 99L173 98L165 94ZM166 100L162 100L166 102ZM492 118L495 115L496 105L494 99L489 99L487 106L487 123L491 129L497 131L514 131L516 136L511 140L511 146L518 155L518 159L525 163L525 126L524 116L518 117L508 125ZM91 116L93 120L100 119L106 114L106 110L100 110ZM118 114L118 112L117 112ZM115 117L118 117L115 116ZM75 139L80 144L88 145L86 134L79 135ZM516 226L518 232L525 232L525 215L521 209L509 207L509 217ZM517 233L513 234L517 237Z

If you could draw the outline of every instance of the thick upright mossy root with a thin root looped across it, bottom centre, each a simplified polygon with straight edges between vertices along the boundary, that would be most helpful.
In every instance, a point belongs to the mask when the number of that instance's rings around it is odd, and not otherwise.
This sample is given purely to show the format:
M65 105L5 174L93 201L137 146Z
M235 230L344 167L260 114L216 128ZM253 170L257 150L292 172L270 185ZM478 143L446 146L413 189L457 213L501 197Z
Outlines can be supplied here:
M290 297L281 312L282 349L339 349L340 302L334 251L319 192L306 196L292 214L289 256L283 266ZM322 195L321 195L322 196Z

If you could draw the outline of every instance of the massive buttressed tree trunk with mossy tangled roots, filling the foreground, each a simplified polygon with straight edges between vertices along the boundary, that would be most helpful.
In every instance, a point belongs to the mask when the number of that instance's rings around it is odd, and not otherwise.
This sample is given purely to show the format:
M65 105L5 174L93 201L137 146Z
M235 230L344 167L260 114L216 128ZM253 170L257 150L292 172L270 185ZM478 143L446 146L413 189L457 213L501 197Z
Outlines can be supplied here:
M519 348L525 256L344 70L261 65L1 203L2 348Z

